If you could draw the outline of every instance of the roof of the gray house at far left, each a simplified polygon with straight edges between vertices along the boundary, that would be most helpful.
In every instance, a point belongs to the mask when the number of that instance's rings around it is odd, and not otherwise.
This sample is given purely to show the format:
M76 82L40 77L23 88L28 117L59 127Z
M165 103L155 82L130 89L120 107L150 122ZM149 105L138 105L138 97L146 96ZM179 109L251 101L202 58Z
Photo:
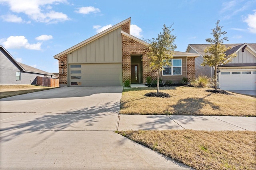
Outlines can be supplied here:
M22 70L23 72L31 72L31 73L37 73L37 74L44 74L44 75L54 76L54 74L52 74L52 73L49 73L49 72L46 72L46 71L43 71L43 70L39 70L39 69L34 68L32 66L28 66L26 64L17 62L14 59L14 57L12 57L12 55L10 55L10 53L2 45L0 45L0 49L2 49L7 54L9 59L11 59L20 68L20 70Z

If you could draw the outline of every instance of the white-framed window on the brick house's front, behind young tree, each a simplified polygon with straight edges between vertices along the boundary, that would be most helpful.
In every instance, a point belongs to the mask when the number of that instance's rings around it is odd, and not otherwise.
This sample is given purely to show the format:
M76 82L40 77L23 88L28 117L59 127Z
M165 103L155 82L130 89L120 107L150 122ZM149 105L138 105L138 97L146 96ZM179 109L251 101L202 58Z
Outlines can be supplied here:
M170 65L163 66L163 76L182 75L182 59L168 59Z

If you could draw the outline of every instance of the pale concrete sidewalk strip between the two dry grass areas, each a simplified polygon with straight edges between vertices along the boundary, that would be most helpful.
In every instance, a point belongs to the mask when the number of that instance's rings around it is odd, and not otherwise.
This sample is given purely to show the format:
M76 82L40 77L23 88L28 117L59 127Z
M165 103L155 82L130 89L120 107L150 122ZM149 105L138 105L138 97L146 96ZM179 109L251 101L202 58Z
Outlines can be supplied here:
M192 115L120 115L118 129L206 131L256 131L256 117L192 116Z

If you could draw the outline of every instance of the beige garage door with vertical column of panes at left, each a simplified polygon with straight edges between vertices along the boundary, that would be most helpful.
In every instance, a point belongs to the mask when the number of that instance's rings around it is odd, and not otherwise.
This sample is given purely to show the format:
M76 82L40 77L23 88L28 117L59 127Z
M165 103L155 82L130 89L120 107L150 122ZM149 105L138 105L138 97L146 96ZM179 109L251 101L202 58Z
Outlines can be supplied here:
M69 64L69 86L122 86L122 64Z

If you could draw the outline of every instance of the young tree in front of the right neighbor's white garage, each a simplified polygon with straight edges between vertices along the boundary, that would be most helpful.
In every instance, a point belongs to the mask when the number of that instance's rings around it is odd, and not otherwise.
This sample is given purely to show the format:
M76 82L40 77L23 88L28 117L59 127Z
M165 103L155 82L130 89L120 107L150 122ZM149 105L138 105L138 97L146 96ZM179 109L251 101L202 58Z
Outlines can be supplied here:
M223 45L224 41L228 41L228 37L223 37L226 35L226 31L221 31L223 26L219 26L220 20L216 22L216 27L212 29L213 38L207 38L205 41L210 43L211 46L204 49L204 61L201 64L202 66L214 66L214 88L217 90L217 68L220 64L226 64L232 61L233 57L236 57L236 54L230 54L226 56L226 51L231 49L231 47L225 47Z

